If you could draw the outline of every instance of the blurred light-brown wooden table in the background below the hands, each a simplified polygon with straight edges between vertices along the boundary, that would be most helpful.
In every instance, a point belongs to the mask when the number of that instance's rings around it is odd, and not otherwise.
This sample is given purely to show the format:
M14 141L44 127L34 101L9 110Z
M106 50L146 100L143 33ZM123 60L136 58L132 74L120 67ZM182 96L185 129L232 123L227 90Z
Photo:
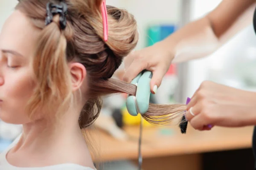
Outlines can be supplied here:
M161 130L172 134L163 134ZM100 155L95 161L136 160L139 128L125 127L125 131L133 136L134 140L121 142L101 130L91 130L93 147L96 148L96 151L99 151ZM193 170L192 164L199 164L201 153L250 148L252 134L252 126L239 128L214 127L210 131L197 131L188 126L186 134L181 134L178 127L143 127L143 164L145 164L145 160L153 162L157 158L163 160L163 157L172 156L173 163L185 159L190 161L189 169ZM200 169L199 165L194 167L195 170ZM179 167L177 169L185 170L187 168ZM161 168L161 170L163 169Z

